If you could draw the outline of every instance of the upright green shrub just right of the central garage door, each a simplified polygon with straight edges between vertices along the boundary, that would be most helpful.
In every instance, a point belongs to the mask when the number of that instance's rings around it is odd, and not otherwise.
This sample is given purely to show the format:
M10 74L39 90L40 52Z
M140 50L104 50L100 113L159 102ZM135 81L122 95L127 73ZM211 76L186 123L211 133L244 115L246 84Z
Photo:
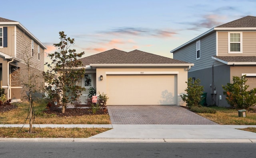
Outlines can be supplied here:
M200 79L196 79L193 83L192 78L188 78L188 82L186 84L188 87L186 88L186 94L181 94L180 97L183 101L187 103L188 107L198 106L200 101L202 100L202 94L204 91L204 86L200 85Z

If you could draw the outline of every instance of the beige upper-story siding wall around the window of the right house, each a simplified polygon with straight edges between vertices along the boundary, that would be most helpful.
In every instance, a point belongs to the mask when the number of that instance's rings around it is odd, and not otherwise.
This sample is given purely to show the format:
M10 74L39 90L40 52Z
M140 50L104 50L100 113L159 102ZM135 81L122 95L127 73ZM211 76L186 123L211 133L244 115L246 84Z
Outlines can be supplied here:
M242 53L228 53L228 32L219 31L217 33L217 36L218 36L218 56L255 56L256 55L256 32L252 32L252 31L242 32Z

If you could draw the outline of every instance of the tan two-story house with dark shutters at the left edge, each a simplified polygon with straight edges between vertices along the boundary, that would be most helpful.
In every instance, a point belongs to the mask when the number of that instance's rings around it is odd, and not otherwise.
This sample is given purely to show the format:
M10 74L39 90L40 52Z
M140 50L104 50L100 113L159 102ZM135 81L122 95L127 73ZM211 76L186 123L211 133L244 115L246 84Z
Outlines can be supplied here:
M7 99L21 99L22 84L16 76L24 73L26 59L34 63L39 72L44 71L45 49L46 46L20 22L0 18L0 88L5 89ZM42 78L36 82L38 87L44 83Z

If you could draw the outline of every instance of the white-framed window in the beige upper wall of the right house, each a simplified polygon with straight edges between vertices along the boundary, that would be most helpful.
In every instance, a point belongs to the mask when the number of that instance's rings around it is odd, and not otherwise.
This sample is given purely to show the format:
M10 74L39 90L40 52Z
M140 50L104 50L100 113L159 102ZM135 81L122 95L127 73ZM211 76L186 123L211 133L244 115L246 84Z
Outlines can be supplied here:
M228 53L242 53L242 32L228 33Z

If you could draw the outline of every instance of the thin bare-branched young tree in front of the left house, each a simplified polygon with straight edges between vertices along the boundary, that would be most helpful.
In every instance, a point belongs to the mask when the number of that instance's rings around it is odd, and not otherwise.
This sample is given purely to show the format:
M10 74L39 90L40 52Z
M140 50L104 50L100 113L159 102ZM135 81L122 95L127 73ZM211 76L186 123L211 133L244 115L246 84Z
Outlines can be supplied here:
M24 41L26 40L24 39ZM34 56L31 55L31 44L23 43L22 46L24 49L19 56L23 66L12 68L12 84L22 86L22 99L28 99L27 118L29 118L30 125L29 133L32 133L32 125L33 123L35 124L33 101L38 97L36 94L42 94L44 84L44 81L42 80L43 71L38 69L38 65L34 61Z

